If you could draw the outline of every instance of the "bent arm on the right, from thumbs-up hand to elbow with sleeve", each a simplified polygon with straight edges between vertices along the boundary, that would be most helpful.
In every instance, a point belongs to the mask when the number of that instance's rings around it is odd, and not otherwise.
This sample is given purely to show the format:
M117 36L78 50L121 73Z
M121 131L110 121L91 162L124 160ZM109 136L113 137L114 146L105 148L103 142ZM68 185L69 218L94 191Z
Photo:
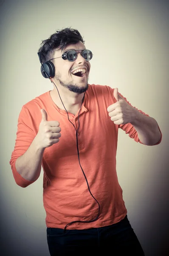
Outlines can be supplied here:
M109 116L115 125L126 131L135 141L144 145L156 145L161 142L162 134L156 120L127 101L118 93L118 89L113 90L113 98L116 102L107 108Z

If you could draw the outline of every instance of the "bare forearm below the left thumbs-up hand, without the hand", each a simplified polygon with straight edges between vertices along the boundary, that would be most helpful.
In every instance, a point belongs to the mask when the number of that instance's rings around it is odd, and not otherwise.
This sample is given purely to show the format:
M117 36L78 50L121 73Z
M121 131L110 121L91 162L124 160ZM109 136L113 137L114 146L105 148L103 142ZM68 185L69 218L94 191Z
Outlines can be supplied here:
M25 180L36 180L41 171L42 157L44 149L39 148L35 137L28 150L17 158L15 166L17 172Z

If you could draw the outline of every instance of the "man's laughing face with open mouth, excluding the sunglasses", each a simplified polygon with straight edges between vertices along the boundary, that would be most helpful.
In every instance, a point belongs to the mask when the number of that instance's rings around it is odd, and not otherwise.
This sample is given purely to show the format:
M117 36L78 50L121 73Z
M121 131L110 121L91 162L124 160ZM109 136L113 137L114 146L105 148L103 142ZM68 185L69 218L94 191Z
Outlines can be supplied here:
M79 41L77 44L70 44L63 51L56 50L53 58L62 56L63 52L68 51L68 49L86 49L85 45ZM62 58L54 59L55 65L55 79L63 87L68 88L68 90L81 94L84 93L88 88L88 77L90 72L90 63L82 57L81 53L78 53L78 57L75 61L63 60ZM85 73L80 76L73 75L73 71L77 69L85 69Z

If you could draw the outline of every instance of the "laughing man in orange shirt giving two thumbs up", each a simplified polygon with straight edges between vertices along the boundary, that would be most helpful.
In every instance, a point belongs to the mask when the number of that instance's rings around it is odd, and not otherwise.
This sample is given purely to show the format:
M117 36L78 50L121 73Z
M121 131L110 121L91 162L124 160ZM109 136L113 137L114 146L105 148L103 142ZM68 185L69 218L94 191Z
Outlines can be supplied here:
M159 144L161 131L117 88L88 84L93 54L84 43L70 28L42 41L41 73L54 89L23 106L11 169L26 187L43 168L51 256L142 256L116 173L118 128L144 145Z

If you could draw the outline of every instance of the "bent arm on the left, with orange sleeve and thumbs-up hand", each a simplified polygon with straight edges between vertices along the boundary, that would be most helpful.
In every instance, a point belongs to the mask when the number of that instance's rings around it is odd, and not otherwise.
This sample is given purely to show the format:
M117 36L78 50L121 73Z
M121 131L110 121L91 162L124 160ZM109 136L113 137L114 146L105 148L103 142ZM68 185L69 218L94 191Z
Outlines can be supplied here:
M39 111L40 112L40 111ZM32 117L22 108L18 119L17 139L11 155L11 169L16 183L26 187L40 175L42 157L46 147L59 142L61 128L58 121L47 121L47 113L41 109L42 120L34 135Z

